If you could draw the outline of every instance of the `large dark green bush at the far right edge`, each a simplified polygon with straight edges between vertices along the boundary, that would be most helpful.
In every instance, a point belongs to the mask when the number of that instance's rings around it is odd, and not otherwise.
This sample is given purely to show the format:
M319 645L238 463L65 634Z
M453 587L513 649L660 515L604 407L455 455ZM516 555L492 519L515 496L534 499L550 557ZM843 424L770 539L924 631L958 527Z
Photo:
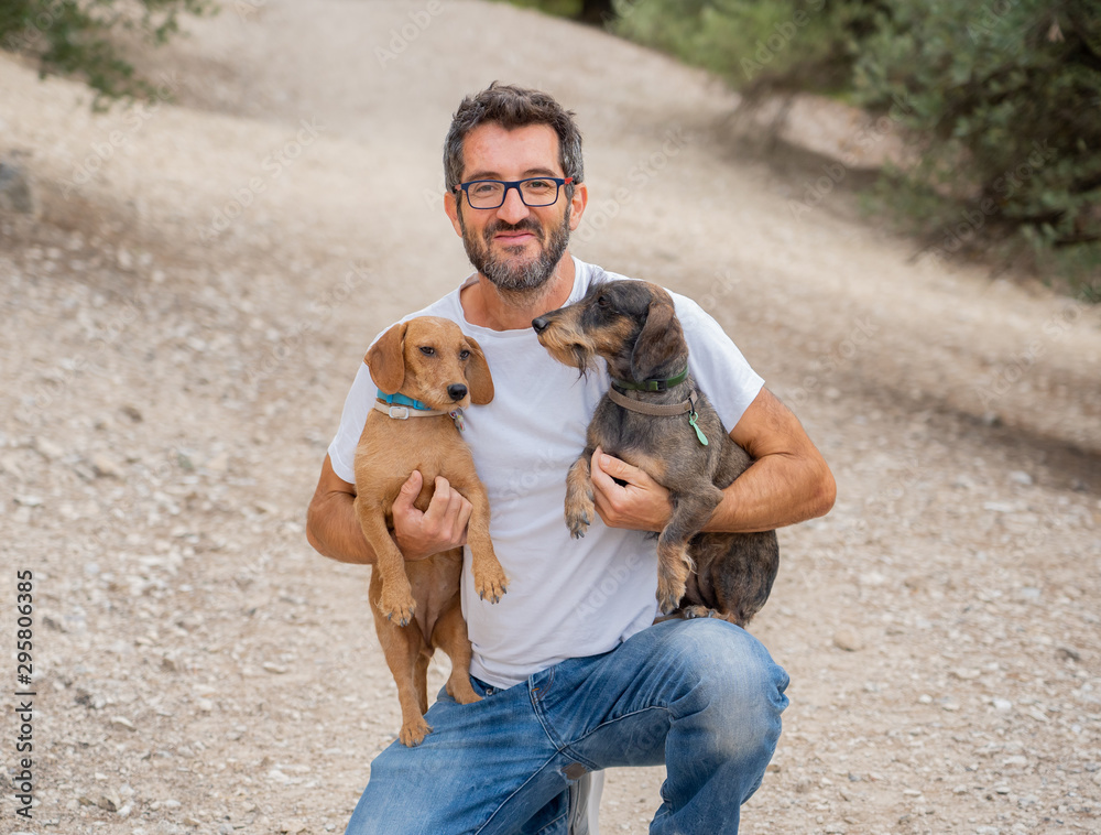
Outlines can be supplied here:
M922 162L903 184L949 198L928 204L941 250L1101 240L1098 0L890 0L853 86L872 108L907 102Z

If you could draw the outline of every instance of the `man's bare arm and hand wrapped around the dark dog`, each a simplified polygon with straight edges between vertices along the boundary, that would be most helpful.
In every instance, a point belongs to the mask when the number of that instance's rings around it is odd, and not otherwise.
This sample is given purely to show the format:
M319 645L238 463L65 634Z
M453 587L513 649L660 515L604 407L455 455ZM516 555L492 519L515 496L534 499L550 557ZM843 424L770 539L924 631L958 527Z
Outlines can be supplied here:
M767 389L761 389L730 437L754 460L723 490L704 530L771 531L825 516L833 507L837 486L826 460L798 419ZM597 512L610 528L659 531L669 519L664 487L599 449L592 456L592 486Z

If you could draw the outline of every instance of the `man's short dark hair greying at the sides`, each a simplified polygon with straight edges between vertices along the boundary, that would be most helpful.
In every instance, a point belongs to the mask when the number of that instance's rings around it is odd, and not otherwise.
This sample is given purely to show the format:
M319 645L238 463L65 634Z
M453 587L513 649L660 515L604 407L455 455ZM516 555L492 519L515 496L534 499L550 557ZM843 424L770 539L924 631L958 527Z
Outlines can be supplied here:
M467 96L451 117L444 141L444 181L450 192L462 180L462 143L479 124L494 122L505 130L528 124L547 124L558 134L558 163L565 176L580 183L585 175L581 162L581 131L574 111L566 110L553 96L539 90L493 82L475 96ZM566 186L567 196L573 188Z

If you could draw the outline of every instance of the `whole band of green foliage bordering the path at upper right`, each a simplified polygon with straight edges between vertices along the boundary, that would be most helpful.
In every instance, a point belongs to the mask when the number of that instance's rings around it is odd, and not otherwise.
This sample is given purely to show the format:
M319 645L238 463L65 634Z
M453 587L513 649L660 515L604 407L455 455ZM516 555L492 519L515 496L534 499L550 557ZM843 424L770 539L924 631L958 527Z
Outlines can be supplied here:
M613 6L614 31L751 99L810 90L901 112L920 163L880 193L940 251L1009 239L1038 263L1101 264L1101 0Z

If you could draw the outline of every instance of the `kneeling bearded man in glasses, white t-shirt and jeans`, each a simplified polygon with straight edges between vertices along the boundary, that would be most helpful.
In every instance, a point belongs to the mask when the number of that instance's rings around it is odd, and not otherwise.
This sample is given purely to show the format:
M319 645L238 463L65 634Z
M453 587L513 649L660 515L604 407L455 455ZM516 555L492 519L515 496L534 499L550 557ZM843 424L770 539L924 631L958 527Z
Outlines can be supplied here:
M510 586L490 604L464 572L471 677L483 698L458 705L440 692L424 742L379 755L348 826L356 835L565 834L582 774L662 762L651 832L737 832L780 736L787 675L759 641L722 620L652 626L656 555L645 532L669 514L659 485L598 451L602 524L574 541L563 521L566 471L608 388L606 372L579 379L552 359L531 326L610 275L567 250L588 200L571 117L545 94L493 84L462 101L448 133L445 209L477 272L412 315L458 322L493 373L497 395L469 411L466 438ZM532 178L542 182L523 182ZM694 376L755 459L709 529L771 530L827 512L833 480L798 421L713 319L674 299ZM352 511L352 463L374 398L361 367L309 507L310 544L344 562L373 560ZM470 514L443 479L418 512L419 488L413 473L394 505L406 560L464 544Z

